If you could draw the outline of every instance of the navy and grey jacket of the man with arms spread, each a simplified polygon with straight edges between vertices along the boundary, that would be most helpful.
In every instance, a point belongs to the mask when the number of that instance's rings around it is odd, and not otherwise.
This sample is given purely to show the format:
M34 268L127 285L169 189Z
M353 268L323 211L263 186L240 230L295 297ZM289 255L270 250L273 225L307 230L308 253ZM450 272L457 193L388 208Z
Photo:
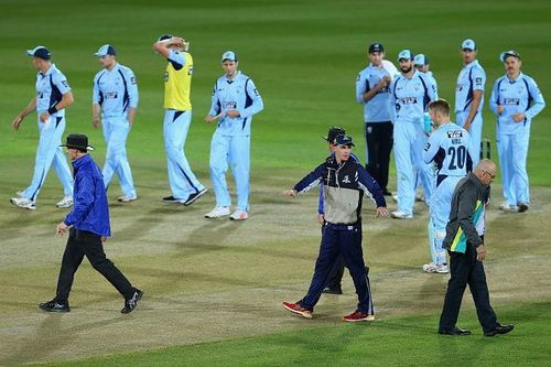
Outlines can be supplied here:
M302 194L323 182L324 217L335 225L353 225L361 219L361 198L366 194L377 205L387 206L379 184L354 159L337 163L331 155L294 185Z

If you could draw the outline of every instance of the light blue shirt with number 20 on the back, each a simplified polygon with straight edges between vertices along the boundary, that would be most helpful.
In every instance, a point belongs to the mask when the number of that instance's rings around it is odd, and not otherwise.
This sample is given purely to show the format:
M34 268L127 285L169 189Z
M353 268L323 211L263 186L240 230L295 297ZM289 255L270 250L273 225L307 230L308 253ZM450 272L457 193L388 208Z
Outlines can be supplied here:
M439 176L463 177L472 170L469 134L456 123L444 123L431 133L423 160L434 162Z

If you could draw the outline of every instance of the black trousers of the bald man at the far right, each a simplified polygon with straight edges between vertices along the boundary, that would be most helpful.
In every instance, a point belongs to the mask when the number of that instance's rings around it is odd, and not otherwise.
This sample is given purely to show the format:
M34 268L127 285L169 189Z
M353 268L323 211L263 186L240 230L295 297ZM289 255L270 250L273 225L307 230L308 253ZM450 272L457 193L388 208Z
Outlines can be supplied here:
M440 316L440 330L453 331L455 327L460 315L461 301L467 284L475 302L478 322L484 332L496 328L497 317L489 305L489 292L484 265L482 261L476 260L476 249L473 245L467 244L465 253L450 252L450 272L451 278L447 282L444 306Z

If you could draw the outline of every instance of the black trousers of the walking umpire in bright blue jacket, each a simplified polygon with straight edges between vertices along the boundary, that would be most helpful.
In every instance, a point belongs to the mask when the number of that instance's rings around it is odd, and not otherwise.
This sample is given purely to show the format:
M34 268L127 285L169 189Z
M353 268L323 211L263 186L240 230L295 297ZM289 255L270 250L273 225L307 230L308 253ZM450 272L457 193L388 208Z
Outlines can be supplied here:
M71 228L57 280L55 298L58 302L67 302L75 272L83 262L84 256L88 258L94 269L100 272L125 299L132 298L134 293L132 284L106 257L101 237L89 231Z

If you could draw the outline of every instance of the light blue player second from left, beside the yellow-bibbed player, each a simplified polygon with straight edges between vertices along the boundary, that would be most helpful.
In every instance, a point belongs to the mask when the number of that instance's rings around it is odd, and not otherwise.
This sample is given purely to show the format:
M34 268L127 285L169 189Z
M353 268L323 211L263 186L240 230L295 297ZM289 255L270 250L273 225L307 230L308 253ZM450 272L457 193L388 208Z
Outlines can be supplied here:
M102 45L94 55L104 67L94 77L91 97L91 123L96 129L99 127L101 112L107 143L104 183L107 188L114 174L117 174L122 191L118 201L127 203L138 198L126 147L138 108L138 83L129 67L117 63L117 53L112 45Z

